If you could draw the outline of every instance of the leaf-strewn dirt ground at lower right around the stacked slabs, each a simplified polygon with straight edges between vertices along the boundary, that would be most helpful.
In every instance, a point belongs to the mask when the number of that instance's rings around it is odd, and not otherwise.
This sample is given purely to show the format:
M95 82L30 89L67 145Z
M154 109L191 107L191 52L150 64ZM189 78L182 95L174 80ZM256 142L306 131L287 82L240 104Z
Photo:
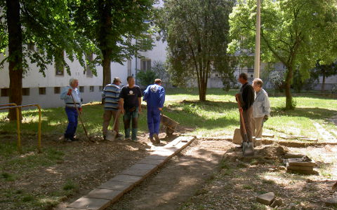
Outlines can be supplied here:
M203 187L204 193L194 195L181 209L271 209L256 202L257 195L268 192L274 192L283 200L284 205L277 209L333 209L324 206L324 200L336 196L327 184L337 177L333 172L336 168L332 162L336 161L333 153L324 148L288 149L292 153L308 155L317 162L325 160L319 162L320 175L286 173L279 167L281 158L277 158L284 153L281 147L258 148L255 158L240 158L241 152L233 149L226 153L220 173Z

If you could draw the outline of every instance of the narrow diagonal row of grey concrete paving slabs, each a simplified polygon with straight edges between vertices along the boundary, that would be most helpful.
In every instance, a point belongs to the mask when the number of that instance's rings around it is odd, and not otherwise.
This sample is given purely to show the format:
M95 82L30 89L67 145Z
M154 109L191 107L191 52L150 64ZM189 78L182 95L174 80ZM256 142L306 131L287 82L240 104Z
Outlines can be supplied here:
M109 181L102 183L91 190L88 195L80 197L69 204L65 210L101 210L109 207L119 200L124 193L132 190L140 182L156 172L173 155L176 155L186 146L192 143L194 137L178 137L157 151L153 151L143 160L132 167L114 176Z

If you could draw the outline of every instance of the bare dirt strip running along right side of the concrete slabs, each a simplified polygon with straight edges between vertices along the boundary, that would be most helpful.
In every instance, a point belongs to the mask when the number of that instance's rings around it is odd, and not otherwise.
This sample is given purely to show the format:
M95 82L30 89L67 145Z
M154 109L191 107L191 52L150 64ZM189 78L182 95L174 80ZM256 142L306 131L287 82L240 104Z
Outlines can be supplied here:
M201 186L213 179L218 162L233 146L227 141L194 140L157 174L107 209L179 209L192 195L204 193Z

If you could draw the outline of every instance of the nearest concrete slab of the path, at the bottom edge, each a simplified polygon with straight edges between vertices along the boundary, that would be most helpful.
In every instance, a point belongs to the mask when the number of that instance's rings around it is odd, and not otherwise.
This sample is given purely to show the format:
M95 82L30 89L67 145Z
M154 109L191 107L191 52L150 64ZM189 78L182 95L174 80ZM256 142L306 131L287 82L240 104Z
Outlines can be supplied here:
M67 207L74 209L102 210L110 206L110 200L91 197L81 197Z

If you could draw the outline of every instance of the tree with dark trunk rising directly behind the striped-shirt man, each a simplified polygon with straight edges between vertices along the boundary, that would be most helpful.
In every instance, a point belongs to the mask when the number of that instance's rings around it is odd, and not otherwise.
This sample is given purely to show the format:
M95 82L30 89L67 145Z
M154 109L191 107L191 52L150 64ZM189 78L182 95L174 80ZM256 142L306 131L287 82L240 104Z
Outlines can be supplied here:
M122 64L138 50L150 50L153 0L80 0L70 8L77 31L100 49L95 61L103 66L103 86L111 83L111 62Z

